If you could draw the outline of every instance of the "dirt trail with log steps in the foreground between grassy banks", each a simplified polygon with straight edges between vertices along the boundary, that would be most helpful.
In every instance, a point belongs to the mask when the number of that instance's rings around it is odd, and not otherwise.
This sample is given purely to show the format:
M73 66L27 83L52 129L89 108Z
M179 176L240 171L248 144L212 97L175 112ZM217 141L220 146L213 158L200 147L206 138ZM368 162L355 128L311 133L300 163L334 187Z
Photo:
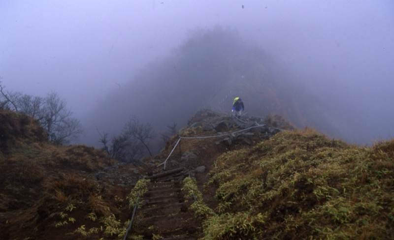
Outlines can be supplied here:
M185 199L182 168L149 177L148 192L143 206L137 210L129 235L143 239L196 240L201 235L200 223L189 211L193 199Z

